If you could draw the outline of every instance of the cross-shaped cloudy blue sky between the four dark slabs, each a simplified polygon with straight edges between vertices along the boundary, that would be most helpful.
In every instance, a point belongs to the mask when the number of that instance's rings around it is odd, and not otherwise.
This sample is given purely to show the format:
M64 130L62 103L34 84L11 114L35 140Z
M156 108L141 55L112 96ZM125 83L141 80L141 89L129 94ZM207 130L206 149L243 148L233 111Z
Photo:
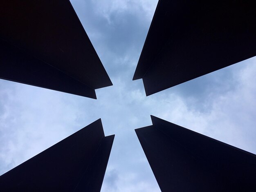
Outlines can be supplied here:
M115 134L102 192L160 191L134 131L150 115L256 154L256 58L146 97L132 77L157 0L71 3L113 86L94 100L0 80L0 175L99 118Z

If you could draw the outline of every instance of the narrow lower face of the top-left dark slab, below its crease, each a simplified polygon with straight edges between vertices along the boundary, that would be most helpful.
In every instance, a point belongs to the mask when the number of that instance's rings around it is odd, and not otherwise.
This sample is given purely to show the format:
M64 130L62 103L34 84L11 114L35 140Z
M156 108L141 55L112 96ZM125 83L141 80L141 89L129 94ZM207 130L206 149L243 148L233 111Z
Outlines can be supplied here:
M0 78L97 99L95 90L0 39Z

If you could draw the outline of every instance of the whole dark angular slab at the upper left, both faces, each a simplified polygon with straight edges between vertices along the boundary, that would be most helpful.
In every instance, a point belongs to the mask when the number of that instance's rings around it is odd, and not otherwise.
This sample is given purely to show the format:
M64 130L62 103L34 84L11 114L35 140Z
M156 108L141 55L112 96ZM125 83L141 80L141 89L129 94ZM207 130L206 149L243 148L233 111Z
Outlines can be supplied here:
M96 98L112 85L69 0L0 6L0 78Z

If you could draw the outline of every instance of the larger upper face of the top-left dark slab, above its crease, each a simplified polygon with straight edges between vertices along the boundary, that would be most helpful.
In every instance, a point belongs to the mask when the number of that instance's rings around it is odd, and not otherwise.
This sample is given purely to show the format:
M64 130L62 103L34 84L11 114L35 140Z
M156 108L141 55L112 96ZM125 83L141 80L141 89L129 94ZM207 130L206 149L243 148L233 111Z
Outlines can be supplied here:
M0 38L10 45L92 89L112 85L69 0L5 1L0 13Z

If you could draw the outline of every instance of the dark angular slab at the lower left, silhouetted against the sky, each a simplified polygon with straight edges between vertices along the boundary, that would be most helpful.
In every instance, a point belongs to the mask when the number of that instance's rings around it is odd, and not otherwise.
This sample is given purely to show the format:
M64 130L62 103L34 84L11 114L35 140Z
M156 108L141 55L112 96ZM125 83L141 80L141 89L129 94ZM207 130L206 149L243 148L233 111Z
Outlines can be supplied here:
M99 192L114 137L99 119L0 176L0 191Z

